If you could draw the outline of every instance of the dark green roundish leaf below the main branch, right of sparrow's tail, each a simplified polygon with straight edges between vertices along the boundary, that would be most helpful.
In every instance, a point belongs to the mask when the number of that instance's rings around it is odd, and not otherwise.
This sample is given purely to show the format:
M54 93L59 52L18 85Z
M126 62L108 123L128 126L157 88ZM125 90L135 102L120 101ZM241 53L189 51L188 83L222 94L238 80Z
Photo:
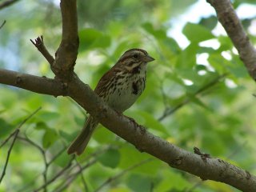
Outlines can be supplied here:
M120 153L118 150L110 149L107 150L106 153L100 155L98 160L103 166L108 166L114 169L120 162Z

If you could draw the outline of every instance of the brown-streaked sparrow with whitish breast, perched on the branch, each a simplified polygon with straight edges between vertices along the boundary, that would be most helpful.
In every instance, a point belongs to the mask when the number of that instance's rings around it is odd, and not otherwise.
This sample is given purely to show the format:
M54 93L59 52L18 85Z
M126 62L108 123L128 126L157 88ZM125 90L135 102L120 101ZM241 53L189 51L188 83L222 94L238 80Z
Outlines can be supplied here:
M127 50L118 62L102 76L94 92L112 109L122 113L134 104L145 89L146 64L154 61L146 50ZM98 120L90 116L78 137L67 150L68 154L82 154Z

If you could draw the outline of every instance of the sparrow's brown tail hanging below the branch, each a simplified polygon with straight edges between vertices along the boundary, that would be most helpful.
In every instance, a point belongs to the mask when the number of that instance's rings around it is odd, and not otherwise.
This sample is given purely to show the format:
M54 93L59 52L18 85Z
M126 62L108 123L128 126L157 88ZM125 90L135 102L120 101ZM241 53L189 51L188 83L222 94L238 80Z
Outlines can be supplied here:
M91 116L87 119L85 126L82 128L78 137L74 139L70 147L67 150L67 154L82 154L86 149L86 146L90 140L91 135L94 133L94 130L98 122L94 120Z

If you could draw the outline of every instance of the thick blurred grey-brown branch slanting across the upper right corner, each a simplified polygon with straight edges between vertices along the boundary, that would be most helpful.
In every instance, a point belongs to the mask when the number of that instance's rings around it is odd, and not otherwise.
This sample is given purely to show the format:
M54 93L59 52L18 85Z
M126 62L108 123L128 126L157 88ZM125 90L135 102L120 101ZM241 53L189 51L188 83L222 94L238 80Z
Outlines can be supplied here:
M256 81L256 50L251 44L242 23L238 19L230 0L206 0L216 10L218 21L237 48L242 62L250 76Z

